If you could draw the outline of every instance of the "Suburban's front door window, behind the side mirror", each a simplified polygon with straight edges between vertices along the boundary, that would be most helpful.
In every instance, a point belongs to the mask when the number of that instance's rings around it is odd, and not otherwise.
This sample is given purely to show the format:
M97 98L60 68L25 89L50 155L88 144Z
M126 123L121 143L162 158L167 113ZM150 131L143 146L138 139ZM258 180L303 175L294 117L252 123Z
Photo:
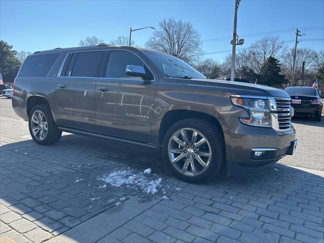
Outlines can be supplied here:
M142 79L142 77L126 75L127 65L142 66L147 73L151 74L142 60L134 53L127 51L110 51L105 77Z

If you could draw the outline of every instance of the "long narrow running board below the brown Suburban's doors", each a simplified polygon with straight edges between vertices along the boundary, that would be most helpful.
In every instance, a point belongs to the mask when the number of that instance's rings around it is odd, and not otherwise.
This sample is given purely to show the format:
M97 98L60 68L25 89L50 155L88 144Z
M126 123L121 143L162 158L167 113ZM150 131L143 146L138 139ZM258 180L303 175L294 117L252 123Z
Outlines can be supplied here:
M76 129L66 128L66 127L57 127L57 129L62 131L62 132L67 132L67 133L73 133L73 134L79 134L79 135L85 135L85 136L92 136L92 137L98 137L98 138L105 138L105 139L110 139L110 140L114 140L114 141L118 141L118 142L131 143L131 144L146 146L146 147L155 148L155 149L160 148L159 145L154 145L154 144L150 144L150 143L143 143L143 142L137 142L137 141L127 140L127 139L123 139L123 138L116 138L116 137L112 137L112 136L108 136L108 135L85 132L85 131L80 131L80 130L76 130Z

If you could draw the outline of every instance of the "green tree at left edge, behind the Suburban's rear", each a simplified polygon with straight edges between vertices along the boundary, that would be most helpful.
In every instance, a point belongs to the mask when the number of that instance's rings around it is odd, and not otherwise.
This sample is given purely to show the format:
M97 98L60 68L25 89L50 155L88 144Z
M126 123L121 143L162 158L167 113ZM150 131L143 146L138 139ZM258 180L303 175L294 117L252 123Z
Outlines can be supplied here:
M4 82L12 84L20 68L20 61L16 58L17 52L7 42L0 41L0 73Z

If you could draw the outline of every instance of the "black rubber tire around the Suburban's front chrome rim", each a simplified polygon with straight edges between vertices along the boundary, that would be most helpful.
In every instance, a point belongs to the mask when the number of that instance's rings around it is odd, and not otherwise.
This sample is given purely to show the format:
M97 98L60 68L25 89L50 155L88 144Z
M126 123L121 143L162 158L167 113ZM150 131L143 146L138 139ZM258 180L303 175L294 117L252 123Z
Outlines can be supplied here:
M212 151L211 161L208 168L205 169L204 172L201 172L202 174L188 176L181 173L180 171L178 171L178 169L175 168L175 166L173 166L169 157L169 141L171 140L172 136L177 133L177 131L184 128L190 128L198 131L207 138L210 144ZM173 124L164 136L162 150L165 163L170 168L170 170L175 174L176 177L187 182L201 182L211 180L222 172L222 169L226 164L225 144L222 130L203 119L188 118L180 120L177 123ZM182 163L182 161L180 161L180 163ZM180 165L179 167L181 166L182 165Z

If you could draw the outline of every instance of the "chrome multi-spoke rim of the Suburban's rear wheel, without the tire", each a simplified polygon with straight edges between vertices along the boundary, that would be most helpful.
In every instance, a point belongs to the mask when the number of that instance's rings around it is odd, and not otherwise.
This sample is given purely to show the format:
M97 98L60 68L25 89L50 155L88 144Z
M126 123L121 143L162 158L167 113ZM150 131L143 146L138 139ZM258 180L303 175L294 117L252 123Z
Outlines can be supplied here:
M35 110L32 113L30 127L32 134L38 140L44 140L47 136L48 124L44 113L40 110Z

